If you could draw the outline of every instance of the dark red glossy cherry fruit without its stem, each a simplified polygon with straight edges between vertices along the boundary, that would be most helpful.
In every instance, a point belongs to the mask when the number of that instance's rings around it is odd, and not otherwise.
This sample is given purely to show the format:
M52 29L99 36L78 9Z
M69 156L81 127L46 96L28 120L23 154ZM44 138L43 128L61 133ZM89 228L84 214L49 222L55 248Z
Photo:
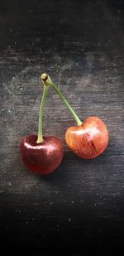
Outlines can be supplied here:
M30 171L41 175L55 171L63 158L63 147L54 136L44 137L44 141L37 143L37 136L31 134L21 139L21 160Z

